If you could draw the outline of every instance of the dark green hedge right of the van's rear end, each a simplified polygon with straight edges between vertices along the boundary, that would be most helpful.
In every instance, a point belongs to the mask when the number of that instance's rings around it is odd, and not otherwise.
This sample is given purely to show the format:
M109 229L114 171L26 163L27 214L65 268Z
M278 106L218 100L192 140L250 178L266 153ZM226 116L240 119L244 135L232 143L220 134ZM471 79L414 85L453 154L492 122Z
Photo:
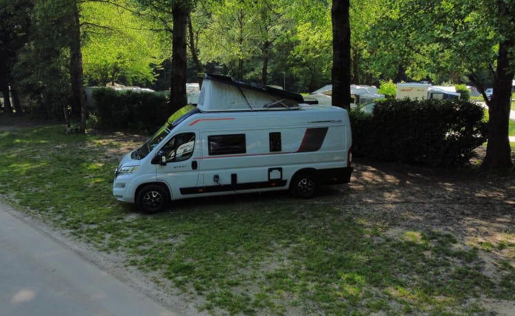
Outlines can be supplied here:
M486 141L483 108L466 100L385 100L351 111L353 155L432 167L468 163Z

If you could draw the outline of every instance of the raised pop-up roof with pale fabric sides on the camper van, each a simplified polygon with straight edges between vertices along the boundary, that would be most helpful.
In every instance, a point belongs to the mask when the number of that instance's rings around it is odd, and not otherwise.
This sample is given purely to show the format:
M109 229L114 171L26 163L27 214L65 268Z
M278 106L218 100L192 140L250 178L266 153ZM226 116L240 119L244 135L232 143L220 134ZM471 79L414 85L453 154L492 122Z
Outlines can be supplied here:
M299 93L205 74L197 108L203 112L285 110L299 109L302 102Z

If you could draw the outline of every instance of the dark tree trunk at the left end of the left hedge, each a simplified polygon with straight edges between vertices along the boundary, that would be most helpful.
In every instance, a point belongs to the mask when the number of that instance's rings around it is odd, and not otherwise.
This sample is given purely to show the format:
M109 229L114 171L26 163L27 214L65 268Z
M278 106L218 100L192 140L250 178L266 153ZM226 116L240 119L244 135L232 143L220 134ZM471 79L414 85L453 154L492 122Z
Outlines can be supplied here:
M78 3L72 4L73 16L70 25L70 77L71 77L71 113L80 117L80 131L86 131L87 107L84 102L84 78L82 74L82 52L80 51L80 21Z

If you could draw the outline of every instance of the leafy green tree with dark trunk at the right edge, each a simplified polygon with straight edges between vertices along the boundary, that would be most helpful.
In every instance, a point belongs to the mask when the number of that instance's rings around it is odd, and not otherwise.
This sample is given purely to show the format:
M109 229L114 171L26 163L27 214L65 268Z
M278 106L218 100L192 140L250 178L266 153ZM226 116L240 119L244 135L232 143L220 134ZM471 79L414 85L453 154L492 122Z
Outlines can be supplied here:
M400 0L391 1L402 27L396 32L410 39L413 49L425 50L430 69L450 76L468 74L488 105L488 145L481 165L484 172L512 170L508 124L515 66L514 0ZM393 5L392 5L393 6ZM402 45L402 44L401 44ZM405 67L420 60L413 58ZM484 78L490 69L494 95L484 94Z

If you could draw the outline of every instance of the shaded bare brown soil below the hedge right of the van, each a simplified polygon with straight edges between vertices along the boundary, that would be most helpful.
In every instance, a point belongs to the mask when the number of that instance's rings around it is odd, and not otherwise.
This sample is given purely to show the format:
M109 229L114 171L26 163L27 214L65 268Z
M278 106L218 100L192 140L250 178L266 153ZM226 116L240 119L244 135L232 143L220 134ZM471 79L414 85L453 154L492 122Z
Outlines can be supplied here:
M477 150L481 161L484 150ZM484 262L482 273L500 278L499 262L515 268L515 177L482 177L470 170L431 170L398 163L360 161L346 187L330 194L330 203L351 214L384 223L385 232L452 234L455 247L477 247ZM504 247L511 245L510 247ZM498 280L499 281L499 280ZM496 282L499 283L499 282ZM479 302L490 315L515 315L515 302L483 297Z

